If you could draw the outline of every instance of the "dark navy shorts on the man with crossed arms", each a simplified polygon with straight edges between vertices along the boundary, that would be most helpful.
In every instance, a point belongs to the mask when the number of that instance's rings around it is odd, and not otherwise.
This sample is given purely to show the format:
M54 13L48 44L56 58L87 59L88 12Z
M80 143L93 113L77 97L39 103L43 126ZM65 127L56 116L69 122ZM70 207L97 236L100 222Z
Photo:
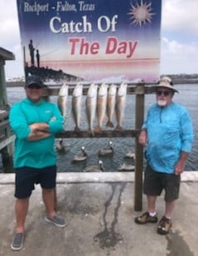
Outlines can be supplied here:
M15 169L15 197L26 199L30 197L35 184L40 184L42 189L53 189L56 187L56 165L37 169L22 167Z

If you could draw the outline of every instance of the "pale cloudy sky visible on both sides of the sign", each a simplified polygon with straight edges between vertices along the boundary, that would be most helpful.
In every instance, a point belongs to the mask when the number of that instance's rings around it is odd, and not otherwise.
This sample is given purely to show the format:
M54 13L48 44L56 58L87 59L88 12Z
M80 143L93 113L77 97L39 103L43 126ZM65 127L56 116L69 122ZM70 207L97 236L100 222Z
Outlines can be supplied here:
M24 75L16 2L0 1L0 47L16 57L6 62L6 78ZM161 74L198 73L197 9L197 0L162 0Z

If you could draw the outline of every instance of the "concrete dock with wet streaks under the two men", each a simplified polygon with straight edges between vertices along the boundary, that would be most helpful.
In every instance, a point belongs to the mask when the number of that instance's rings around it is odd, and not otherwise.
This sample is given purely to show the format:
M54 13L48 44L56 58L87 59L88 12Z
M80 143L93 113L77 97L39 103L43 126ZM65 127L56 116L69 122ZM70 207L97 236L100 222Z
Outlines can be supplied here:
M36 185L27 214L24 247L10 248L15 228L14 174L0 174L1 256L142 256L198 255L198 171L181 175L180 199L172 216L170 234L157 234L157 224L138 225L134 217L142 211L134 204L134 173L58 173L58 212L67 220L65 228L44 221L41 188ZM157 199L157 215L164 210L163 194Z

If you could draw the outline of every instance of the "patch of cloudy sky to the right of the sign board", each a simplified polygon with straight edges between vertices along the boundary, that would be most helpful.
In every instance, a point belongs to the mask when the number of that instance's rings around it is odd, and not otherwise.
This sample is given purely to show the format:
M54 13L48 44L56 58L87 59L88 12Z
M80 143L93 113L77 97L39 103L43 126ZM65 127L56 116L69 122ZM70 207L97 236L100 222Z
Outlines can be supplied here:
M197 0L164 0L162 6L161 72L197 73Z

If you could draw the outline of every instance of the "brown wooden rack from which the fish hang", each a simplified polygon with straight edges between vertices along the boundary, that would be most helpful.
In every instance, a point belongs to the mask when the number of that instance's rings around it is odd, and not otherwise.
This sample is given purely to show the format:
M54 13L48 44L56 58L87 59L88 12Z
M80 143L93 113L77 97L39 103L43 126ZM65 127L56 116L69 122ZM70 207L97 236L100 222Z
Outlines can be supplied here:
M83 83L82 83L83 84ZM83 84L83 95L86 95L90 84ZM118 85L117 85L118 86ZM72 95L75 84L70 84L68 95ZM60 88L46 87L45 96L57 96ZM127 94L135 95L135 126L133 130L101 130L91 134L88 130L65 130L56 134L56 138L99 138L99 137L130 137L135 139L135 189L134 189L134 209L142 210L142 171L143 171L143 149L138 143L138 134L144 119L145 94L152 94L155 91L154 84L128 84Z

